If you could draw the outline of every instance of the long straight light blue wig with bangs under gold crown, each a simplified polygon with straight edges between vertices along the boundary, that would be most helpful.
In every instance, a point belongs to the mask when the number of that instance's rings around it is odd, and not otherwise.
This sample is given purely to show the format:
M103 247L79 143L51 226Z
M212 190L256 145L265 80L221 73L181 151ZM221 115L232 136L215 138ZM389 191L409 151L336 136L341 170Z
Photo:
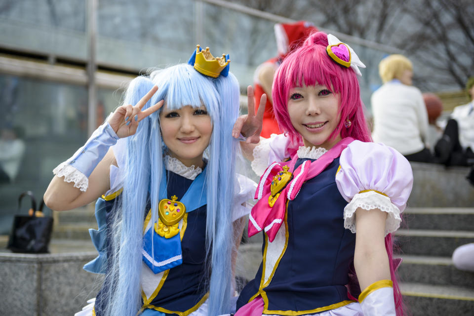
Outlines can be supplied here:
M206 168L207 217L206 262L210 271L208 315L227 314L231 297L231 253L234 245L231 209L234 197L237 142L232 127L239 111L237 79L211 79L187 64L154 71L148 77L133 79L124 104L136 104L154 85L157 93L144 109L164 99L168 109L204 105L213 130ZM113 226L113 255L110 255L112 286L107 293L107 316L135 316L141 307L140 275L142 238L147 197L152 218L158 218L158 192L163 176L164 145L161 141L159 113L143 119L135 135L127 138L124 190L117 204ZM148 195L149 194L149 195ZM146 269L146 268L144 268ZM158 285L158 284L157 284Z

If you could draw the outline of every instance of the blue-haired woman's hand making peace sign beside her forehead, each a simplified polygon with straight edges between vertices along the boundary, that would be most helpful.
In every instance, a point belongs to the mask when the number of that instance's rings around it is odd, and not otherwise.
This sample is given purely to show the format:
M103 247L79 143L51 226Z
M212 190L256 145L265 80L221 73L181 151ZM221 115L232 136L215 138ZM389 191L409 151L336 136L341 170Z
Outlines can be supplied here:
M107 120L120 138L128 137L137 131L138 123L148 117L150 114L158 111L164 103L164 100L142 111L142 108L157 92L158 87L154 86L135 106L131 104L122 105Z

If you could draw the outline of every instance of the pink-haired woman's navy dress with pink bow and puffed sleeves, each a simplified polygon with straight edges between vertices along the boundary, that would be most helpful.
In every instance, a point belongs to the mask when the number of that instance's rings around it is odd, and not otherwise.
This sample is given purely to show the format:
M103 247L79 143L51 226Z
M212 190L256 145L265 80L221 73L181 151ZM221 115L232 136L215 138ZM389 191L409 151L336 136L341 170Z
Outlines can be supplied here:
M254 151L252 167L263 175L249 232L263 232L263 261L241 291L237 315L363 315L346 287L354 260L355 212L359 207L387 212L386 234L394 232L411 192L411 166L382 144L344 139L329 151L300 147L295 157L279 162L293 172L281 192L285 196L278 197L284 198L281 212L274 209L277 204L269 206L265 192L274 174L275 181L283 174L272 162L283 160L286 145L282 135L275 135ZM262 172L269 157L276 173L269 171L272 167Z

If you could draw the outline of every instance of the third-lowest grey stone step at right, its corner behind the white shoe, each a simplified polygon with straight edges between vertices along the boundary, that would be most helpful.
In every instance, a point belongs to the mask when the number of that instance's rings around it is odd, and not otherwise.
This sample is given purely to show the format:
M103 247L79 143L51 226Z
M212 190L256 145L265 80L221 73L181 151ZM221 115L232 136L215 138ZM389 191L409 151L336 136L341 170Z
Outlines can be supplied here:
M399 229L395 243L401 255L451 257L457 247L474 242L474 232Z

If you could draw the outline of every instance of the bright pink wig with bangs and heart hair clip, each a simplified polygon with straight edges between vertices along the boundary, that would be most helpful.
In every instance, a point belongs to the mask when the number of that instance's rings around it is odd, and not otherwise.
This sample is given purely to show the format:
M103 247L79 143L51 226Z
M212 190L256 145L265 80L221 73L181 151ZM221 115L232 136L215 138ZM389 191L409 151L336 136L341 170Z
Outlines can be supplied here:
M331 92L339 94L341 121L330 138L339 133L342 138L353 137L363 142L372 141L363 114L357 75L351 68L334 62L326 52L327 35L323 32L311 34L303 45L289 54L276 71L273 81L273 111L280 130L288 132L293 144L302 139L291 124L287 110L288 92L295 86L325 85ZM344 126L349 118L352 125Z

